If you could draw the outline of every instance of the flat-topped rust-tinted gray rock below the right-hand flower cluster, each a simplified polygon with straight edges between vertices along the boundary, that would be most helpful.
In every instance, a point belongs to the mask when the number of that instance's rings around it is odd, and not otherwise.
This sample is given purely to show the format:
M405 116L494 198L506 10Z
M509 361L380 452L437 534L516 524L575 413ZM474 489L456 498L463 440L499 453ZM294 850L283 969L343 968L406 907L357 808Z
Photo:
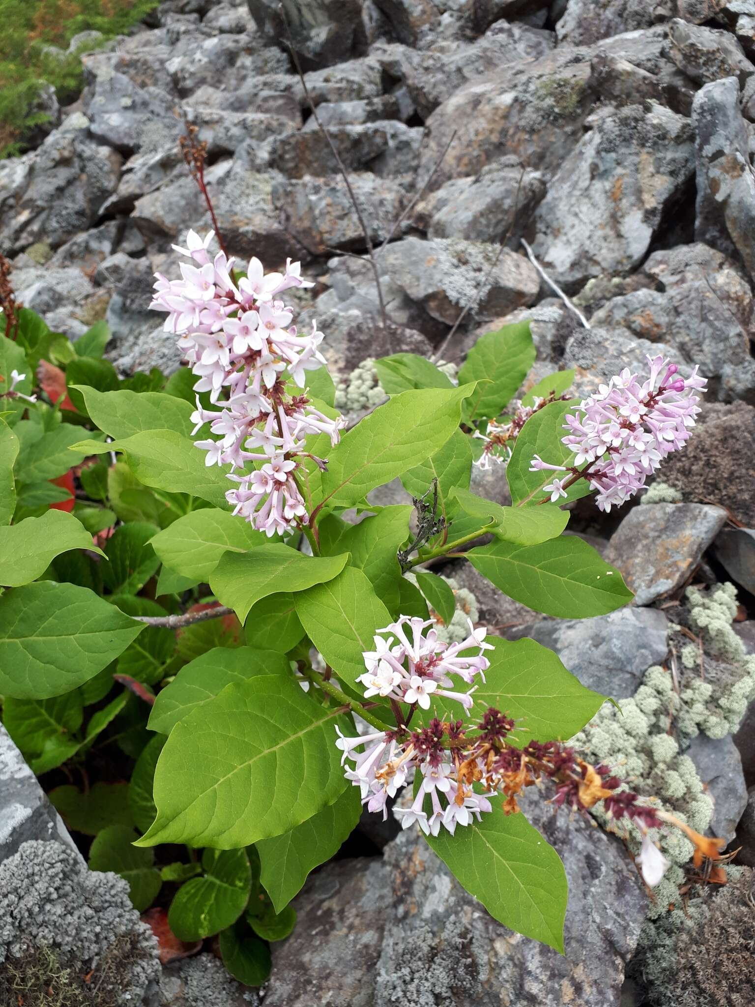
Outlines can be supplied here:
M683 587L725 521L726 511L703 503L635 507L611 538L606 559L634 591L635 604L649 605Z

